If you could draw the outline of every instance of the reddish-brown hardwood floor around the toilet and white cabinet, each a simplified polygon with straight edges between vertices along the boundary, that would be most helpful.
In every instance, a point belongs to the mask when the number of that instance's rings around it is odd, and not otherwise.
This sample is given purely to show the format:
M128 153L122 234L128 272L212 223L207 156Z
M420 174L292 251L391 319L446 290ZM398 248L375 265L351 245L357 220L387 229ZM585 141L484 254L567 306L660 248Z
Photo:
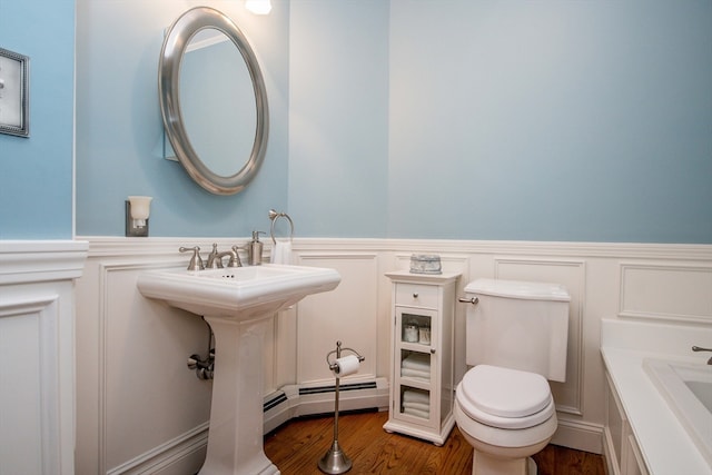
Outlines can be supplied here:
M471 474L472 447L457 427L442 447L383 429L388 413L342 414L338 443L358 474ZM320 474L334 417L294 419L265 436L265 453L283 475ZM534 456L540 475L605 475L601 455L548 445Z

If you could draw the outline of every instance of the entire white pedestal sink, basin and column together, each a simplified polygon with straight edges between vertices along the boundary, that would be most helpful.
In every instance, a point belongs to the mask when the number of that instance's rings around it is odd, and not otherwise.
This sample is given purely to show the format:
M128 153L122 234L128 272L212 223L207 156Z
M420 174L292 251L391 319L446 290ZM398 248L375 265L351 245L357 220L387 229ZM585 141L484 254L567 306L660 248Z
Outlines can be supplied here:
M281 265L139 276L145 297L202 315L215 334L208 455L200 475L279 474L263 449L264 324L339 281L333 269Z

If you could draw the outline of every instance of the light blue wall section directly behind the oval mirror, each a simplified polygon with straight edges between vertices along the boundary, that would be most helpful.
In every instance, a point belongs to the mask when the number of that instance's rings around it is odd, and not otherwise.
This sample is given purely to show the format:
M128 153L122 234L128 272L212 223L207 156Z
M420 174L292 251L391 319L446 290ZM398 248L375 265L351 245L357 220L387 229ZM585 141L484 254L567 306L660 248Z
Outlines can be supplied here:
M289 3L257 17L243 2L212 0L253 44L269 99L269 146L241 194L214 196L156 155L162 122L158 59L164 30L192 1L77 1L77 234L123 236L123 201L148 195L151 236L249 236L267 230L267 211L287 206ZM244 157L241 162L245 162Z

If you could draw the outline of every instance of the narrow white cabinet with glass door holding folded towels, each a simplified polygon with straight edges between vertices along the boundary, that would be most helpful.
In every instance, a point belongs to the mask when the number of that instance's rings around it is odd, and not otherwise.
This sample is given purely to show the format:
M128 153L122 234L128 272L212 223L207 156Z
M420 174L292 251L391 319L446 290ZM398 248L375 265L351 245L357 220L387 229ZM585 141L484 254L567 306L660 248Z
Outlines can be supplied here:
M459 274L386 274L393 281L387 432L442 445L455 419L453 329Z

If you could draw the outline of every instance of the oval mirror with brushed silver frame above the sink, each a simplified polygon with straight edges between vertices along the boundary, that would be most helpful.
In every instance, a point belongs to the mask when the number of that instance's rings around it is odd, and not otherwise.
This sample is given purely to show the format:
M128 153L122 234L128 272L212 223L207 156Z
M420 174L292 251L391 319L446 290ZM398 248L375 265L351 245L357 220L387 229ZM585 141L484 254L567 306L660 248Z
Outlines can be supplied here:
M257 58L237 26L208 7L181 14L164 41L158 90L188 175L216 195L245 189L265 159L269 118Z

